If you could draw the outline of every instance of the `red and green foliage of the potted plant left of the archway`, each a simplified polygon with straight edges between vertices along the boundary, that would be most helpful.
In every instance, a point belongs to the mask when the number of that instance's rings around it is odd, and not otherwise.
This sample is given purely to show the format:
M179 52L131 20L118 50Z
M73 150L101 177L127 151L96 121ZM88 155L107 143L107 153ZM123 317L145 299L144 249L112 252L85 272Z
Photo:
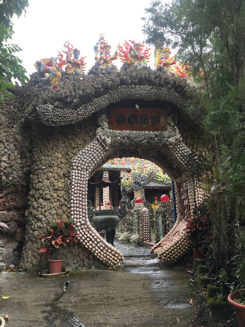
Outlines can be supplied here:
M50 256L52 251L55 251L57 254L57 249L62 245L65 246L73 242L77 243L77 229L73 223L73 219L64 222L59 220L56 223L51 222L50 226L45 227L43 234L38 236L38 239L42 239L45 242L45 247L41 248L40 252L43 255Z

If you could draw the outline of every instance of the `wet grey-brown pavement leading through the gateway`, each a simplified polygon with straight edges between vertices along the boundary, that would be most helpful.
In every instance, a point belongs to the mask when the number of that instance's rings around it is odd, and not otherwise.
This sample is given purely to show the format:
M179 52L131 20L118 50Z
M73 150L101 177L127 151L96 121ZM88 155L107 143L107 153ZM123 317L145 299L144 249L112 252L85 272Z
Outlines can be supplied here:
M118 271L84 269L66 278L0 275L0 316L13 327L189 327L193 316L184 268L164 267L149 246L115 241ZM69 279L69 287L63 291Z

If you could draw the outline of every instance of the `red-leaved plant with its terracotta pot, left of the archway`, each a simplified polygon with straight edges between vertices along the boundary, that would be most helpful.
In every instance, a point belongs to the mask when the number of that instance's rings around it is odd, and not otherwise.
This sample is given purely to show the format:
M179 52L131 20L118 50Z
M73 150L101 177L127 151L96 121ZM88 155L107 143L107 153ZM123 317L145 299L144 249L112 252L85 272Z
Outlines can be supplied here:
M49 257L52 253L52 259L48 259L48 273L62 272L63 259L58 258L58 249L60 246L77 243L78 237L76 235L77 229L74 226L74 220L66 221L59 220L58 222L51 222L50 226L45 227L43 234L38 236L45 243L45 247L40 249L43 255Z

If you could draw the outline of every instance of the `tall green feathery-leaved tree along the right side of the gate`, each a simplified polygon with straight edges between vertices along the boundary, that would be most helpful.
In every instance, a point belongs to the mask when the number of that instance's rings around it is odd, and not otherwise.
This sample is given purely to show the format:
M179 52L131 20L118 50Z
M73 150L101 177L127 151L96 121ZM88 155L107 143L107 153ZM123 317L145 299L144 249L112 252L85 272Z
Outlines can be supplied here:
M234 253L229 236L234 236L238 224L245 224L245 0L232 4L230 0L173 0L166 5L154 1L146 13L146 41L157 48L178 48L179 58L191 63L196 81L205 85L196 98L201 94L203 124L213 135L217 178L226 188L209 206L209 254L213 249L216 272L220 268L229 272Z

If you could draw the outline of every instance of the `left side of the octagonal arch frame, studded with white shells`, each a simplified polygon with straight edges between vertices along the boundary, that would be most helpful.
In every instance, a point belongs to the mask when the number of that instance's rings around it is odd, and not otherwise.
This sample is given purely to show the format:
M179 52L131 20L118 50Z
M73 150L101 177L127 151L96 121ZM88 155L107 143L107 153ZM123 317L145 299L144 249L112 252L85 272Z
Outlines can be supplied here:
M87 216L88 179L101 166L102 161L107 156L105 147L95 138L73 160L70 218L74 219L77 226L80 242L94 254L95 258L110 267L116 268L124 263L124 256L97 233L90 225Z

